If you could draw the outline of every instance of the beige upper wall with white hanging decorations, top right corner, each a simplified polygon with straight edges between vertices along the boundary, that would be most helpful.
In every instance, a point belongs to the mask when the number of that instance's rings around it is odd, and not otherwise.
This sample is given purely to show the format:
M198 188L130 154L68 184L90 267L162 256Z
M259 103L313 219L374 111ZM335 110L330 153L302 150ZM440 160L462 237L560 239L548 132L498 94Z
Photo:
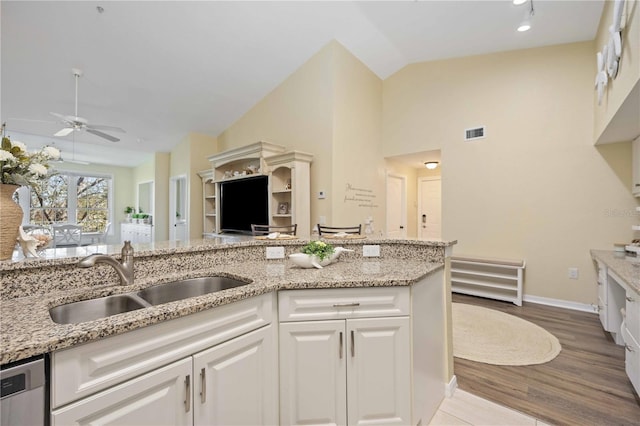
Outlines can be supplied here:
M593 78L595 78L597 68L596 53L601 52L609 42L609 26L613 22L613 5L613 1L606 1L600 18L593 48L593 64L590 69ZM640 82L640 1L627 0L626 5L626 26L622 31L622 55L618 75L615 79L609 79L600 105L598 105L597 93L594 92L594 140L600 138L629 93Z

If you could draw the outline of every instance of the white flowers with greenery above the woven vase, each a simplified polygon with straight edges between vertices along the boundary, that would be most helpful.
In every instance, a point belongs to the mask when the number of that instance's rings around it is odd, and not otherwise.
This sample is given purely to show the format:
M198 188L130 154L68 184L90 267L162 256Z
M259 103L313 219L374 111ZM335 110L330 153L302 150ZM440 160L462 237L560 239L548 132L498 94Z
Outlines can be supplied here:
M0 182L31 186L49 175L49 161L60 158L60 151L45 146L39 151L29 152L24 143L2 137L0 149Z

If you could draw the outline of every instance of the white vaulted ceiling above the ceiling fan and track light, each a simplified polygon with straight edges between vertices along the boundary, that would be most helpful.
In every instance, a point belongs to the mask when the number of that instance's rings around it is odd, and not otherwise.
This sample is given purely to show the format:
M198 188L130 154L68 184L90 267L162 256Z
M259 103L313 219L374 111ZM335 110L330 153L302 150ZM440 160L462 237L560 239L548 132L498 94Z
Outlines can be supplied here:
M7 1L1 116L22 140L67 157L137 165L189 132L217 136L335 39L384 79L407 64L593 40L603 1ZM594 56L595 58L595 56ZM595 66L595 65L594 65ZM119 142L73 132L50 112L118 126ZM595 69L594 69L595 72ZM109 132L107 132L109 133Z

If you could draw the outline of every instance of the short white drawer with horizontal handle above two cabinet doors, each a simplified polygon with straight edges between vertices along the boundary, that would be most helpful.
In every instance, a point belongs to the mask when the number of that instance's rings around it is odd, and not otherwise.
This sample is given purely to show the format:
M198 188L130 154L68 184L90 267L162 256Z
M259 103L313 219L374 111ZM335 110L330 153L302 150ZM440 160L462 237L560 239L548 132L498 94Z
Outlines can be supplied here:
M280 322L406 316L410 310L408 286L278 292Z

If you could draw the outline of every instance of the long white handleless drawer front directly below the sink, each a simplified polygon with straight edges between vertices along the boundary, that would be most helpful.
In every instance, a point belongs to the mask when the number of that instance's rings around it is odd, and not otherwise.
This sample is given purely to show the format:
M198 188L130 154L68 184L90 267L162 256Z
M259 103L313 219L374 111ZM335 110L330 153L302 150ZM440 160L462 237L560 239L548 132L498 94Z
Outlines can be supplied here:
M54 352L52 408L270 324L273 298L263 294Z

